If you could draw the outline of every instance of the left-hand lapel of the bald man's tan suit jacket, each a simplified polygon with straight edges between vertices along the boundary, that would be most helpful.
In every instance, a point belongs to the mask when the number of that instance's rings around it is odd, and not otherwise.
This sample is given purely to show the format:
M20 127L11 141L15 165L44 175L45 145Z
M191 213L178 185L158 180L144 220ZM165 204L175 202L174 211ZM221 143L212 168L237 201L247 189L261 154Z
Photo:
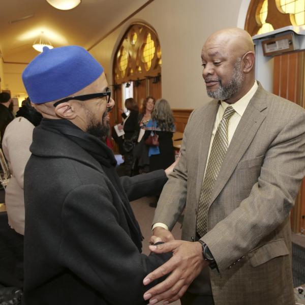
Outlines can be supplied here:
M197 184L196 184L196 198L199 202L199 196L203 184L203 175L207 162L208 148L211 141L212 131L215 124L216 115L218 112L220 102L217 100L211 101L206 108L204 108L204 115L202 121L204 125L198 126L196 134L199 135L199 159L198 159L198 171L197 171Z

